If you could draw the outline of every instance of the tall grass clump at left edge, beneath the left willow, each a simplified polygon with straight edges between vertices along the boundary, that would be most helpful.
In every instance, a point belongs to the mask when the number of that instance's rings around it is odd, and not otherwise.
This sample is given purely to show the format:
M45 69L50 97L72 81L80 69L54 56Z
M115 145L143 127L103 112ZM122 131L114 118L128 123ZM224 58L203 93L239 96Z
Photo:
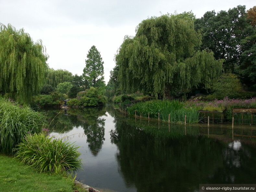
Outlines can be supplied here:
M40 133L46 125L45 115L28 106L0 98L0 151L11 154L28 133Z

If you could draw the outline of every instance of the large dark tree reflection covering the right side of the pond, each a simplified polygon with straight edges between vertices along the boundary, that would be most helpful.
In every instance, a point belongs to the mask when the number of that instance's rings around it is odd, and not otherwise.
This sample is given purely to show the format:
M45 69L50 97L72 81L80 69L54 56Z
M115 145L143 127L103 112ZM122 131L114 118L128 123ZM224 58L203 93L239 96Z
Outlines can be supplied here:
M134 126L129 120L119 118L116 129L111 131L111 141L119 150L116 159L127 187L135 185L139 192L197 191L200 183L244 183L245 179L239 176L243 170L237 166L245 169L247 163L252 170L247 168L248 172L242 174L244 178L251 175L252 183L256 176L255 154L241 155L239 150L245 148L238 149L237 143L229 145L220 139L200 136L198 129L197 134L175 133L178 137L171 137L171 131L157 126L154 130L147 129L138 120Z

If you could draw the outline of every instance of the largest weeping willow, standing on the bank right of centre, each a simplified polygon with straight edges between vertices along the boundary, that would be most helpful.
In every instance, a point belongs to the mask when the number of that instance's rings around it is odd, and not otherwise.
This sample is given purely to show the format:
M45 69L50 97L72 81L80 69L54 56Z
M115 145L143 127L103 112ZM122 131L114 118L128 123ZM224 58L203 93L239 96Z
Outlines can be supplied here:
M170 90L209 88L223 68L210 51L197 51L201 34L191 13L143 20L135 37L126 36L116 55L118 79L125 92L144 90L156 97Z

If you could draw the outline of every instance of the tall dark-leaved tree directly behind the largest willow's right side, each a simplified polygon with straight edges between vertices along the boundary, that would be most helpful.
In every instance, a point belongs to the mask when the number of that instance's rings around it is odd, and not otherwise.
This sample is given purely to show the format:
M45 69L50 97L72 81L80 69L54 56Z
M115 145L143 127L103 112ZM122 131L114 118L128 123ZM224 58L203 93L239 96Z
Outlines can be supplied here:
M237 6L228 11L208 11L195 20L195 29L202 32L202 49L210 49L216 59L225 59L225 71L234 72L239 56L243 52L241 40L253 33L246 19L245 6Z

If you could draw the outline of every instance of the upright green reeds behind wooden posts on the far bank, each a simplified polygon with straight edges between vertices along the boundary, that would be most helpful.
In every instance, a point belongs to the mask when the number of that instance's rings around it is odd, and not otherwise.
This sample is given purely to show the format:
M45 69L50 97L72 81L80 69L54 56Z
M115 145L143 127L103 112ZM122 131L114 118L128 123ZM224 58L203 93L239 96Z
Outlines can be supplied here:
M187 123L199 122L199 107L188 107L185 106L184 102L179 102L177 100L153 100L149 102L141 102L134 104L127 108L129 114L148 117L158 118L158 113L160 114L160 119L163 121L168 121L168 116L170 114L170 121L173 123L185 122L185 115L187 115Z

